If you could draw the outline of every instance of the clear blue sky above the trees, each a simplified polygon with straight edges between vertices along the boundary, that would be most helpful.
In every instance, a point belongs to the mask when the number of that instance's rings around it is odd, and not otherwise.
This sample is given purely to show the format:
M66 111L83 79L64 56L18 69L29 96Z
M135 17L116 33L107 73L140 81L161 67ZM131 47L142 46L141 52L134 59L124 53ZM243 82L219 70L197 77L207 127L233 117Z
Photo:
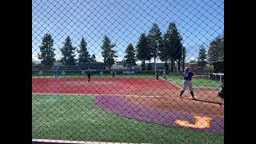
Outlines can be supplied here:
M187 60L197 58L198 48L207 48L224 31L223 0L32 0L32 58L38 60L44 34L54 39L57 59L67 36L78 48L82 38L90 55L102 61L102 39L115 43L118 61L126 47L134 47L142 33L156 22L162 32L175 22L187 50ZM78 56L78 54L76 54ZM153 60L152 60L153 61Z

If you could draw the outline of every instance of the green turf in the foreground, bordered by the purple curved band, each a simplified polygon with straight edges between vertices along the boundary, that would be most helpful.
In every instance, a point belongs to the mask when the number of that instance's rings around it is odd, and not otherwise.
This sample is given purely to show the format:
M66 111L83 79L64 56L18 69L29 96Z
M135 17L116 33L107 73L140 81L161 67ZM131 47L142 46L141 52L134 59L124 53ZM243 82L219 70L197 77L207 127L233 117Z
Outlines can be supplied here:
M224 134L142 122L106 112L89 95L33 95L32 138L100 142L223 143Z

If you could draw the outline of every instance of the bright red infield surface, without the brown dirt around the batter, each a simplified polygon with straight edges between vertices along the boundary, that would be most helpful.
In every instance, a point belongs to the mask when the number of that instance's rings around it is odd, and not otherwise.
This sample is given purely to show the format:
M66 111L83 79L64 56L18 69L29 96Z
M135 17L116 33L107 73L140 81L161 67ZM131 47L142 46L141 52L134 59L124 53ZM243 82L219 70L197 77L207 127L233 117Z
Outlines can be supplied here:
M177 86L154 78L32 78L33 93L52 94L141 94L147 90L179 90Z

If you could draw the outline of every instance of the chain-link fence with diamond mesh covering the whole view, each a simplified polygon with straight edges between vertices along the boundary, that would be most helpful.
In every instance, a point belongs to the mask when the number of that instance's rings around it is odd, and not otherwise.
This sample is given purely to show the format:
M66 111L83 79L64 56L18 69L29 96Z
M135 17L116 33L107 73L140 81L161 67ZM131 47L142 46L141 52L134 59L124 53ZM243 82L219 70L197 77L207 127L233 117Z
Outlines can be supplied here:
M223 0L33 0L33 142L223 143Z

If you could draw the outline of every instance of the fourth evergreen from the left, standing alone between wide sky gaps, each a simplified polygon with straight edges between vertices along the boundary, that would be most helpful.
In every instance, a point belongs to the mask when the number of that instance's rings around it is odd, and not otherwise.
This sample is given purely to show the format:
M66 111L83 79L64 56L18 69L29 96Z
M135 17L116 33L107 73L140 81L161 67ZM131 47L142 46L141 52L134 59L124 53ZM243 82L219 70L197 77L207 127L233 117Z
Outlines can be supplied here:
M103 62L106 66L109 66L109 69L111 70L111 66L114 65L114 58L117 58L116 51L113 50L115 44L112 44L110 41L110 38L108 38L106 35L103 38L102 43L102 57Z

